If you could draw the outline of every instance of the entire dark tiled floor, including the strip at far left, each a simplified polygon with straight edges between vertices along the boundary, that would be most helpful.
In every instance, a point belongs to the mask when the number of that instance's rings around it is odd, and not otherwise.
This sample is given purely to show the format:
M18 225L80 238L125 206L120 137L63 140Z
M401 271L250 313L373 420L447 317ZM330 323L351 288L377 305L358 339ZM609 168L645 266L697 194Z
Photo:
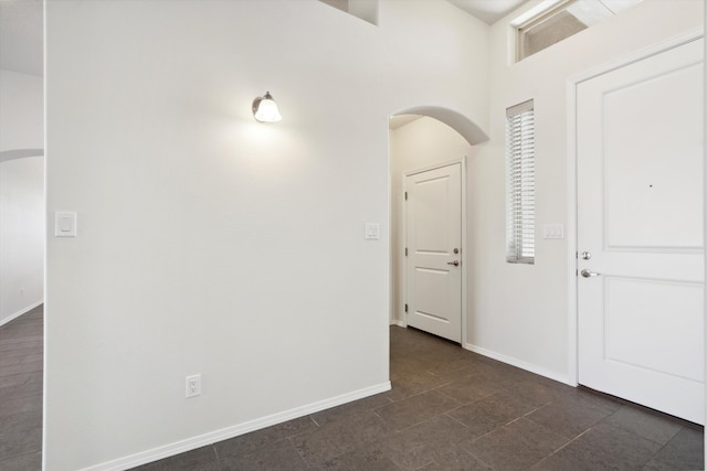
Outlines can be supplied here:
M696 470L703 431L391 328L392 390L136 470ZM0 470L41 468L41 308L0 328Z

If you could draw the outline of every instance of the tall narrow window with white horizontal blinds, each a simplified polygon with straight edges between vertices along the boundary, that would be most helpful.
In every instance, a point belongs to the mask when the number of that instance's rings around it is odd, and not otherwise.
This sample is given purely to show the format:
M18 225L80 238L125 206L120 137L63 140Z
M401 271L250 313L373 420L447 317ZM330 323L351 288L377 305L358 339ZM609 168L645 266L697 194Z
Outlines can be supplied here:
M535 263L535 114L532 100L506 110L506 261Z

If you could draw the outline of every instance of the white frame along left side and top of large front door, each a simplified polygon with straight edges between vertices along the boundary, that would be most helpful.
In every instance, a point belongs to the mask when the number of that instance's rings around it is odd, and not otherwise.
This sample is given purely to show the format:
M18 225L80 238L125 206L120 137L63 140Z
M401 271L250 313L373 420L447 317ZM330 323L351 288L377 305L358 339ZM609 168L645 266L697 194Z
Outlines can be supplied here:
M619 60L602 64L598 67L572 75L567 81L567 202L568 202L568 379L573 386L579 385L579 277L578 277L578 184L580 175L577 172L577 87L579 84L599 75L624 67L653 55L661 54L683 44L700 41L705 35L704 28L696 28L683 34L662 41L648 47L641 49ZM707 170L707 165L706 165ZM707 207L707 206L706 206ZM706 220L707 221L707 220ZM705 233L707 234L707 232ZM707 250L706 250L707 257ZM572 281L573 280L573 281Z

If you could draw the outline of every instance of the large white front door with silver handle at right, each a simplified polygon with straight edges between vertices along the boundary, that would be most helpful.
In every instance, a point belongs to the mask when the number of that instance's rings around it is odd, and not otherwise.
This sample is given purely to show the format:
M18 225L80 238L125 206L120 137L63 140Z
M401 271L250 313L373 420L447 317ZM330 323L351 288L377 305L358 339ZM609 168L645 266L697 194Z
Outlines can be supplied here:
M703 424L703 43L577 86L579 382Z

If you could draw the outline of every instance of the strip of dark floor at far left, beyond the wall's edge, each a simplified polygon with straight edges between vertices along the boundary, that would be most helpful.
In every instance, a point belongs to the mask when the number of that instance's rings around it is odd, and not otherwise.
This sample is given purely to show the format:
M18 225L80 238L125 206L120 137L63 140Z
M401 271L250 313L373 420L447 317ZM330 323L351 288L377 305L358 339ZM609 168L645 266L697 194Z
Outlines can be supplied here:
M0 327L0 470L42 468L42 307Z

